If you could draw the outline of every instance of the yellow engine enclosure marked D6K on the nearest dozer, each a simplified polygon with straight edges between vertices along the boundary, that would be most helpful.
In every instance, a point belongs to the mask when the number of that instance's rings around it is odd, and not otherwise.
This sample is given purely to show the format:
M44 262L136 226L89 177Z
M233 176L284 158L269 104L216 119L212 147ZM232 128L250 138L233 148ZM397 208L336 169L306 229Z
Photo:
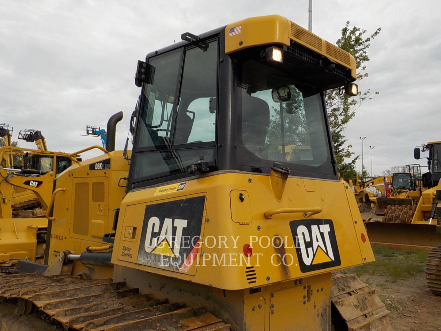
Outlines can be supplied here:
M125 187L118 185L121 177L127 177L129 165L123 157L123 151L117 150L109 155L103 154L95 158L75 163L63 173L58 175L56 188L66 188L56 195L53 207L52 231L48 245L49 264L58 256L57 252L66 249L75 254L81 254L86 251L87 246L103 246L107 243L102 242L102 235L111 232L113 224L113 209L120 207L121 201L125 195ZM129 151L130 154L130 151ZM96 166L106 163L110 169ZM95 170L96 169L96 170ZM75 196L71 193L75 189L76 183L88 183L89 191L88 202L82 201L79 205L74 204ZM108 192L108 187L112 187L112 192ZM103 193L104 190L104 193ZM111 194L109 194L111 193ZM103 199L104 198L104 199ZM95 201L94 201L95 200ZM89 207L88 207L89 206ZM89 225L87 235L73 233L73 216L75 212L72 207L87 209L86 222ZM35 218L37 219L37 218ZM93 271L94 269L94 271ZM112 270L112 268L107 267ZM79 272L86 272L92 278L111 277L106 267L85 267L81 263L74 261L73 272L76 275Z

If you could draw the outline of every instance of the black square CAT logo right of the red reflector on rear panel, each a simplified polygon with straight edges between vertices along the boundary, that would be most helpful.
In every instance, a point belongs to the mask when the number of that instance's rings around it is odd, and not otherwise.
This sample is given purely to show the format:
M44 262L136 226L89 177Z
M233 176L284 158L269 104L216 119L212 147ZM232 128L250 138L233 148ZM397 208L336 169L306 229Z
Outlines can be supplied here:
M289 223L295 242L300 271L309 272L341 264L330 219L303 219Z

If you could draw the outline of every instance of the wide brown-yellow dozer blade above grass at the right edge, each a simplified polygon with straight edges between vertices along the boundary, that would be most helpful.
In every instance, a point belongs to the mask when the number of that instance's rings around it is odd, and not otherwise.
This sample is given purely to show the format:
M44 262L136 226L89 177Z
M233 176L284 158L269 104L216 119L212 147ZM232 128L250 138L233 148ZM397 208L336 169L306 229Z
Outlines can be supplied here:
M436 221L434 221L436 222ZM441 244L441 235L435 224L366 222L371 244L383 244L389 248L431 249Z

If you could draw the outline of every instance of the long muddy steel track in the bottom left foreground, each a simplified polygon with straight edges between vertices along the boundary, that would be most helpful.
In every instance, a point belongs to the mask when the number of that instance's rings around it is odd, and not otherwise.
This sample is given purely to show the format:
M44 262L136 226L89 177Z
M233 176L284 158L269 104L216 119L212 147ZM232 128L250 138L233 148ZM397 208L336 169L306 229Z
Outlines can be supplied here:
M78 277L0 276L0 287L19 286L7 296L17 297L17 312L29 314L37 309L60 322L66 329L75 330L182 330L228 331L230 324L207 312L203 307L188 307L183 303L157 300L138 289L129 289L125 282L112 279L86 280ZM12 290L12 289L11 289ZM0 305L0 316L5 305ZM10 319L8 323L17 323ZM26 321L26 319L24 319ZM4 323L4 322L2 322ZM34 330L34 328L21 330ZM5 325L7 327L7 325ZM52 326L48 325L48 329Z

